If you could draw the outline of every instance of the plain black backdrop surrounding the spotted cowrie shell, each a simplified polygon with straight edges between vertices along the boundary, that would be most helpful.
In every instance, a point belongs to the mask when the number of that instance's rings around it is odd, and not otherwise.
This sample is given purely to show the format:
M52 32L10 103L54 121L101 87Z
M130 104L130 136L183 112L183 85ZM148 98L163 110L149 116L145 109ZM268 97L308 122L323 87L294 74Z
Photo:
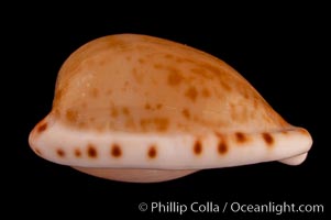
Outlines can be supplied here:
M2 155L5 206L3 210L25 217L85 217L119 219L134 215L157 219L159 213L141 212L140 202L194 201L223 205L322 204L328 212L330 170L327 158L330 61L322 6L176 6L142 11L128 8L88 6L62 10L21 6L33 10L13 11L3 19L2 92L5 125ZM35 8L36 7L36 8ZM100 10L102 9L103 10ZM143 8L143 7L142 7ZM106 10L104 10L106 9ZM164 9L164 10L163 10ZM15 19L14 19L15 18ZM8 22L7 22L8 21ZM9 22L10 21L10 22ZM96 37L117 33L140 33L185 43L208 52L239 70L287 121L309 130L313 146L300 166L276 162L202 170L159 184L128 184L99 179L70 167L37 157L29 147L32 128L52 108L57 72L76 48ZM8 68L5 68L8 67ZM8 79L7 79L8 77ZM7 82L8 81L8 85ZM8 88L5 88L8 86ZM3 106L3 107L4 107ZM119 218L114 217L120 215ZM188 215L185 215L188 216ZM244 219L244 213L191 213L202 219ZM275 215L249 215L261 219ZM282 219L320 219L326 213L282 215ZM170 215L177 219L178 213Z

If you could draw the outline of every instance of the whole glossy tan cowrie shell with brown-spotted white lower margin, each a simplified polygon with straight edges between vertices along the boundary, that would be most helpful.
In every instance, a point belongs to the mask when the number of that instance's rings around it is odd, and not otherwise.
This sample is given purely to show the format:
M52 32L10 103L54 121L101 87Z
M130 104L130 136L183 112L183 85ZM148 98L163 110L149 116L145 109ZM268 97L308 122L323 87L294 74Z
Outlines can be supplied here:
M29 142L51 162L140 183L269 161L297 165L312 144L224 62L137 34L74 52Z

